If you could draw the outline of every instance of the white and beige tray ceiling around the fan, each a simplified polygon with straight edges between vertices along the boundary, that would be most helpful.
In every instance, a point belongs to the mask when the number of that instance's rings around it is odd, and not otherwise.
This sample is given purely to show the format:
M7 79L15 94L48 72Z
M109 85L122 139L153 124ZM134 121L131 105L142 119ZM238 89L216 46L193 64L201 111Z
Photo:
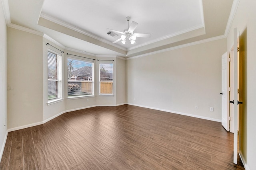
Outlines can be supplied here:
M136 56L224 35L233 0L2 0L10 22L45 33L66 49L94 55ZM134 33L150 38L112 44L106 28L124 31L126 17Z

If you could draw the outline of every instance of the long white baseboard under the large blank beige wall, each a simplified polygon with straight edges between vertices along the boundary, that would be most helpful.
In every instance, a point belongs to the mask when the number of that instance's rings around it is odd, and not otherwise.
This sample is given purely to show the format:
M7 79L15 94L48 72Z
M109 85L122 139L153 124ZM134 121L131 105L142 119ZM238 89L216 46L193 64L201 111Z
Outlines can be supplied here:
M192 115L192 114L188 114L188 113L182 113L182 112L166 110L166 109L159 109L159 108L156 108L156 107L142 106L142 105L132 104L132 103L127 103L127 104L132 105L132 106L145 107L145 108L148 108L148 109L166 111L166 112L169 112L169 113L175 113L175 114L179 114L179 115L185 115L185 116L196 117L196 118L200 118L200 119L206 119L206 120L221 122L221 119L213 119L211 117Z

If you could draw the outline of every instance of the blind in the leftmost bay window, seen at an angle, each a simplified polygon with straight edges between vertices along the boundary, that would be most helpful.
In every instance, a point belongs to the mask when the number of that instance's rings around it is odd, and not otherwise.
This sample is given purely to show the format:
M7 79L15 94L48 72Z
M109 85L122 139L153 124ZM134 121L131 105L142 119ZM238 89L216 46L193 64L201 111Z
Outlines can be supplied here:
M48 59L48 100L62 98L62 67L61 56L50 51Z

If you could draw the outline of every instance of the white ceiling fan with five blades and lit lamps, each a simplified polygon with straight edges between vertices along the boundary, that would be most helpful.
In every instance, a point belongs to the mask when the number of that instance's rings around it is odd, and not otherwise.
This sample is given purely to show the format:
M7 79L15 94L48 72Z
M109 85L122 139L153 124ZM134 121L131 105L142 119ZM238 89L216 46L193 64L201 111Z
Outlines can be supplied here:
M151 36L151 34L148 34L148 33L133 33L134 29L136 29L136 27L138 26L138 23L132 21L130 27L129 27L129 21L130 21L130 17L126 17L126 20L128 21L128 28L127 29L124 29L124 32L121 32L121 31L116 31L116 30L113 30L113 29L109 29L113 32L116 32L116 33L120 33L122 34L121 35L121 38L117 39L116 41L113 42L113 44L117 43L118 41L121 41L123 44L125 44L125 42L127 40L130 40L131 44L134 44L135 43L135 40L137 39L137 37L143 37L143 38L148 38Z

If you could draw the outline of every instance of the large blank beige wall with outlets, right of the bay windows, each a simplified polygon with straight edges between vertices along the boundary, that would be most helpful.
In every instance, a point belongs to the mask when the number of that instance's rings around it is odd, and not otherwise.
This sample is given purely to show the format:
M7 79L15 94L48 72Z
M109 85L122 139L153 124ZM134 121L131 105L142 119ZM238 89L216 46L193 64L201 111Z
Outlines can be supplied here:
M225 52L226 39L220 39L128 60L127 102L220 121Z

